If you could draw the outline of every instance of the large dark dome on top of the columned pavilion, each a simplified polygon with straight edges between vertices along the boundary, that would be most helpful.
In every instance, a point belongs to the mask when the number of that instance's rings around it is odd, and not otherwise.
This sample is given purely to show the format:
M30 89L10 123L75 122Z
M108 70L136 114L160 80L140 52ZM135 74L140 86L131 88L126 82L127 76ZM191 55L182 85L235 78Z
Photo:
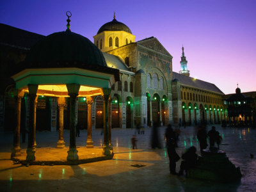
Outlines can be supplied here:
M88 38L70 31L52 33L37 42L25 62L33 63L30 68L107 67L102 52Z

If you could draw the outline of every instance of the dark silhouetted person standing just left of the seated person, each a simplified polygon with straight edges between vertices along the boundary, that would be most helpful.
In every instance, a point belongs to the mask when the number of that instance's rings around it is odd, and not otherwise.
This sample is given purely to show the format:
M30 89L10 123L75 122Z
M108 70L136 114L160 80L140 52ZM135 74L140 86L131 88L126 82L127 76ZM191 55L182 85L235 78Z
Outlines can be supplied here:
M177 175L176 172L176 162L179 161L180 157L175 151L175 146L176 146L176 134L172 129L172 125L168 125L165 131L165 138L166 138L166 147L167 147L167 152L168 152L168 157L170 161L170 173L172 175Z

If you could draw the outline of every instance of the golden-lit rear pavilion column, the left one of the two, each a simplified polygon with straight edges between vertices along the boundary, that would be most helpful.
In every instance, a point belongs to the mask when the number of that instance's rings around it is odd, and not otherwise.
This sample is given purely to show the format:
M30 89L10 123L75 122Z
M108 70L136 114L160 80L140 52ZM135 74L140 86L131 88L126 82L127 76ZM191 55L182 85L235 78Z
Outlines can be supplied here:
M63 121L64 121L64 107L66 106L65 98L58 98L58 108L59 108L59 140L57 142L57 148L64 148L65 142L63 139Z

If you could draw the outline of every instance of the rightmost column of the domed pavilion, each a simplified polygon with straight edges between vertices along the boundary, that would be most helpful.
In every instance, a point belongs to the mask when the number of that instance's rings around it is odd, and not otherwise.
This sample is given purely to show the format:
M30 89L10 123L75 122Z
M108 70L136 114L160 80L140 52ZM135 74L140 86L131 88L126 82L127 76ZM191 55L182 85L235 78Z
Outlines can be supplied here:
M109 96L111 93L110 88L102 88L103 97L104 100L104 143L103 143L103 154L105 156L111 156L111 150L109 147L109 129L108 129L108 104L109 104Z

